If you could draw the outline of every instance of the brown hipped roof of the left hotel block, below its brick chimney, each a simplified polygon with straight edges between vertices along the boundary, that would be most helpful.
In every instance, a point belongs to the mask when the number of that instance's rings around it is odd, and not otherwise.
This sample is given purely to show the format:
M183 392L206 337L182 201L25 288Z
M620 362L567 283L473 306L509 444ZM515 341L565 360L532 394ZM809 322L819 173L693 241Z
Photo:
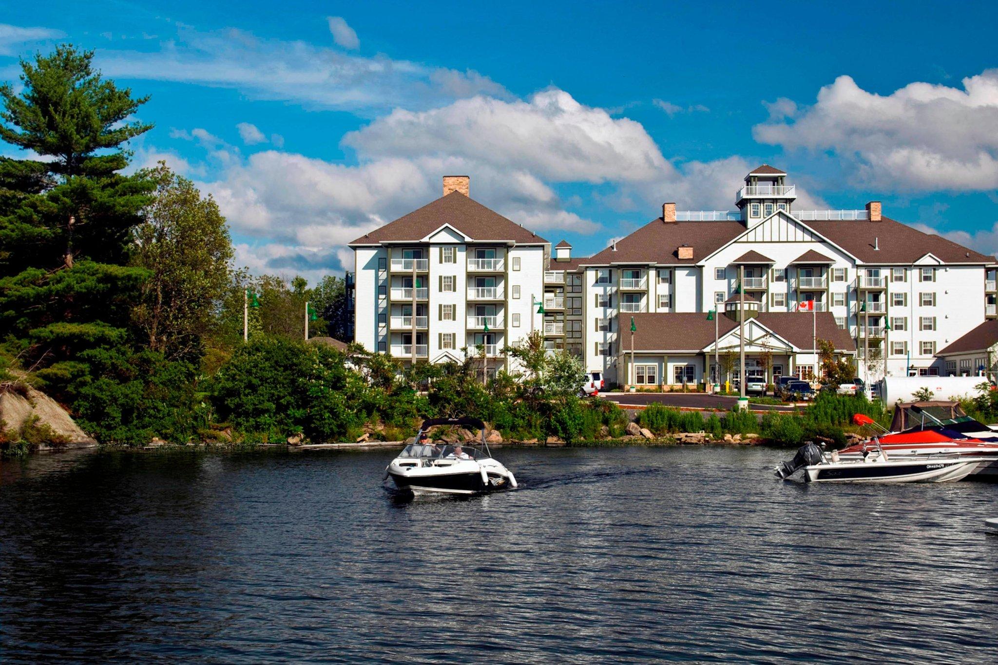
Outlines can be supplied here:
M389 222L350 244L373 244L384 241L416 242L440 226L450 224L475 240L547 242L516 222L490 210L458 191Z

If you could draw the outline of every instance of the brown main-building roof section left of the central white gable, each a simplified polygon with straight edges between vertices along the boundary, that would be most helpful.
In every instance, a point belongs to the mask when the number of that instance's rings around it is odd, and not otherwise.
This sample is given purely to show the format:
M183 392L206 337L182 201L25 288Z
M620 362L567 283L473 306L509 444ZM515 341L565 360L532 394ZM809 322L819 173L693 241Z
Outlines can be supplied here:
M617 251L607 247L583 261L584 264L608 263L687 263L693 264L721 248L746 230L741 221L677 221L653 219L630 235L617 241ZM693 247L693 258L677 255L680 245Z

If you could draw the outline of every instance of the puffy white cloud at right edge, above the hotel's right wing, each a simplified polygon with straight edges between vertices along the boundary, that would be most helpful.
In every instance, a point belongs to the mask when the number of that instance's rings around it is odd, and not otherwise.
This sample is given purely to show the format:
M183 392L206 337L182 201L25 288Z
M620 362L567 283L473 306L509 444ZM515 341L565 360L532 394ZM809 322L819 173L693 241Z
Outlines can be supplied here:
M963 79L963 88L912 83L890 95L866 92L847 76L821 88L802 111L770 105L755 126L761 143L832 151L855 179L903 190L998 187L998 70Z

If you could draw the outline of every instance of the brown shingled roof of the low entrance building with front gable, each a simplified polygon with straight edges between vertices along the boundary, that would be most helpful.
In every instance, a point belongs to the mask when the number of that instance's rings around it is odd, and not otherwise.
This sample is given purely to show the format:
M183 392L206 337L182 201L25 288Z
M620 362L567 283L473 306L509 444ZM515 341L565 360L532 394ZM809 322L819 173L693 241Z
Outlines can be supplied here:
M837 351L856 350L855 341L846 330L835 325L831 312L813 314L800 312L760 312L756 320L798 349L809 350L813 344L812 325L817 324L818 339L832 342ZM691 351L705 349L714 343L714 321L704 312L644 312L634 315L638 332L634 337L636 351ZM718 319L718 334L724 336L739 324L727 316ZM630 342L628 342L630 349Z

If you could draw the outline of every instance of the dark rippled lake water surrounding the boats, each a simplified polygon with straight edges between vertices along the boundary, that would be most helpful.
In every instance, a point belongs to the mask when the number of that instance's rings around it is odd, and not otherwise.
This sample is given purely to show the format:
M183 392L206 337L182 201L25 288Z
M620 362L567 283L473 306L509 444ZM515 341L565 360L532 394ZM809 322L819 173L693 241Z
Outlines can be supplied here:
M998 660L998 485L804 486L771 449L0 463L0 661Z

